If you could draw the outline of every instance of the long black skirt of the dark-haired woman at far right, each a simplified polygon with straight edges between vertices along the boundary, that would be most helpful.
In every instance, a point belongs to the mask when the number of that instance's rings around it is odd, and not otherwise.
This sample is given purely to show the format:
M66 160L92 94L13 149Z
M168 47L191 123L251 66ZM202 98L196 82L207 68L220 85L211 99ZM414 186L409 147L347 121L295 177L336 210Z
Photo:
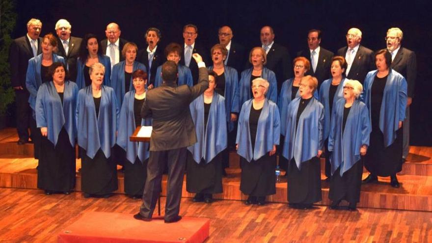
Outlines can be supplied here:
M402 170L402 131L396 131L396 139L388 147L384 147L384 135L378 129L372 129L370 144L364 165L373 175L391 176Z

